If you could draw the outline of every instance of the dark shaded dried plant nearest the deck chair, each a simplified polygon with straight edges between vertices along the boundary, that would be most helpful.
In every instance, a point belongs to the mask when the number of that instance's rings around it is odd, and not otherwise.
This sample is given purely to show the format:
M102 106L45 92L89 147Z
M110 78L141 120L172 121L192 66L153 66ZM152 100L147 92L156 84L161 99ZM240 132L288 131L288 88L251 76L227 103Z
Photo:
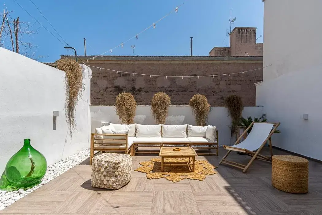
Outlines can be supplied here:
M232 123L230 126L231 137L236 133L236 127L240 123L242 117L242 111L244 110L244 105L242 103L242 98L237 95L230 95L225 99L225 106L228 109L228 114L232 118Z

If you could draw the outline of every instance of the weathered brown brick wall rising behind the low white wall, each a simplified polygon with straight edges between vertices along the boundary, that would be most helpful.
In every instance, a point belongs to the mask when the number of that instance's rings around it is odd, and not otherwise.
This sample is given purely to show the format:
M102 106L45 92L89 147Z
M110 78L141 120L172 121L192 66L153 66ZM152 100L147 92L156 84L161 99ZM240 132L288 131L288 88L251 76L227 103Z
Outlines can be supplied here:
M257 60L94 60L90 61L88 65L130 73L201 76L236 73L262 67L262 58L255 58ZM86 58L84 57L84 59ZM171 97L172 105L187 105L190 98L196 93L204 94L211 105L223 105L224 99L231 94L241 96L244 105L255 105L254 83L262 81L262 69L245 74L215 76L214 78L200 77L199 79L174 77L166 79L153 76L150 78L149 76L133 76L103 69L100 71L94 67L91 69L91 104L114 104L116 96L121 92L133 93L138 104L150 104L154 93L163 91Z

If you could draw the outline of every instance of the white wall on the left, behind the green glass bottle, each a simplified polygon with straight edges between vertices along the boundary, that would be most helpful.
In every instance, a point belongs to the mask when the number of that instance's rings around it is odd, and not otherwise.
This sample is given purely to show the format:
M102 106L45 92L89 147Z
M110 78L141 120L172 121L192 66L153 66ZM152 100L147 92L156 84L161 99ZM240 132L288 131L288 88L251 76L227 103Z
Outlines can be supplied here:
M71 138L65 121L65 74L23 55L0 48L0 174L7 161L30 138L48 165L89 147L91 70L82 67L85 91L76 108ZM59 111L52 130L53 111Z

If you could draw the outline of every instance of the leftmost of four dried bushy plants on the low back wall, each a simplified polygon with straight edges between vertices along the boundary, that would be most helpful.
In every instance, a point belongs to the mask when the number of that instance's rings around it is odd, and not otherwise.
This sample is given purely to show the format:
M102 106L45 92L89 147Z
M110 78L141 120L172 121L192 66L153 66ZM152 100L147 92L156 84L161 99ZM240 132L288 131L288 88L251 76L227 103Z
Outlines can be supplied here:
M137 109L137 102L131 93L120 93L116 96L115 109L122 124L132 124Z

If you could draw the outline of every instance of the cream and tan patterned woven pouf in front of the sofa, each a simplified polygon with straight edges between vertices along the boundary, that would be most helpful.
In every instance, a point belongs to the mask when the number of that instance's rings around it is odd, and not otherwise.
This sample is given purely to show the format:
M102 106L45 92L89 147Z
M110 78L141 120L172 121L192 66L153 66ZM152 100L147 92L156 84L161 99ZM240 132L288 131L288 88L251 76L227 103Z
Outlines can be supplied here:
M93 157L92 187L117 190L131 180L132 158L128 154L102 153Z

